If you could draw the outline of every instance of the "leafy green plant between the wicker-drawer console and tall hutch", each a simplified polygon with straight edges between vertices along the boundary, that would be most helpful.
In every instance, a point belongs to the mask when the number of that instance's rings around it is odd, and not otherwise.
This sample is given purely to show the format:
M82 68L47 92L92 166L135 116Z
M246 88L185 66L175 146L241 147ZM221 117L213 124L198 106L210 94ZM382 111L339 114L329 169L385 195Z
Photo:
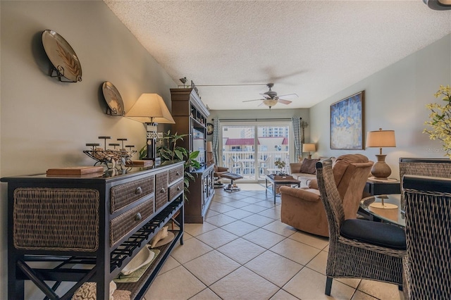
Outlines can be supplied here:
M182 146L178 146L178 141L183 141L183 138L187 135L178 135L177 132L171 135L171 130L164 134L163 138L159 139L160 145L156 148L156 155L161 158L161 165L167 165L169 163L176 163L179 161L185 161L185 173L183 176L184 185L184 197L187 201L187 194L189 193L188 187L190 187L190 180L194 180L194 176L190 173L190 170L200 168L199 161L196 160L199 156L199 151L190 151ZM144 146L140 150L140 158L146 156L147 147Z

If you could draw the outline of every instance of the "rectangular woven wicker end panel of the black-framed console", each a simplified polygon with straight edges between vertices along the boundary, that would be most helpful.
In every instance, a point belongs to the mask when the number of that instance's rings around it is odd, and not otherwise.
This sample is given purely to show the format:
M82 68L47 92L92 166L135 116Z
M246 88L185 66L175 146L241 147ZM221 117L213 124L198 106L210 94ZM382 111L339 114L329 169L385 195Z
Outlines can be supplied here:
M14 189L13 242L16 249L96 251L99 247L99 191Z

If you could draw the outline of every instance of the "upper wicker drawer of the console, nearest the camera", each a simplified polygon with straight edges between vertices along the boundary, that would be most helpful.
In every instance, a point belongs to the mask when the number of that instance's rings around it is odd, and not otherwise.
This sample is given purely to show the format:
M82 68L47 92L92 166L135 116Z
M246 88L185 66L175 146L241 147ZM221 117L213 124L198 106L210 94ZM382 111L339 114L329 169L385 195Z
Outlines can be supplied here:
M154 176L116 185L110 190L111 213L154 192Z

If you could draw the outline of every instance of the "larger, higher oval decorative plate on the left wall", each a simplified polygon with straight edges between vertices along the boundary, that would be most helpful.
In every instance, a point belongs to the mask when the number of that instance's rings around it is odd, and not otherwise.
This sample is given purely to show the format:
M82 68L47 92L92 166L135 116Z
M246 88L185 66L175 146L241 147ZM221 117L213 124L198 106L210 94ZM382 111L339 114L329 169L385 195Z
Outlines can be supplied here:
M44 30L42 32L42 46L44 46L44 51L53 65L51 77L58 77L63 82L82 81L80 61L66 39L53 30ZM62 77L65 79L63 80Z

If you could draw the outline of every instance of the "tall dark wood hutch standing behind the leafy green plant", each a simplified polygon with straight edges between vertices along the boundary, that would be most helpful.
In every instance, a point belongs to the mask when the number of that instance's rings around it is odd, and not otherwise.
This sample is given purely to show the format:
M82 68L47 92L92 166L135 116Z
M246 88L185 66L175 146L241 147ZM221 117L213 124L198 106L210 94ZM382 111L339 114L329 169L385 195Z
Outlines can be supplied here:
M171 89L172 116L175 124L171 132L187 135L183 146L199 151L197 161L203 163L199 170L190 170L194 182L190 182L190 194L185 204L185 222L203 223L211 199L214 196L213 165L206 165L206 118L210 115L194 89Z

